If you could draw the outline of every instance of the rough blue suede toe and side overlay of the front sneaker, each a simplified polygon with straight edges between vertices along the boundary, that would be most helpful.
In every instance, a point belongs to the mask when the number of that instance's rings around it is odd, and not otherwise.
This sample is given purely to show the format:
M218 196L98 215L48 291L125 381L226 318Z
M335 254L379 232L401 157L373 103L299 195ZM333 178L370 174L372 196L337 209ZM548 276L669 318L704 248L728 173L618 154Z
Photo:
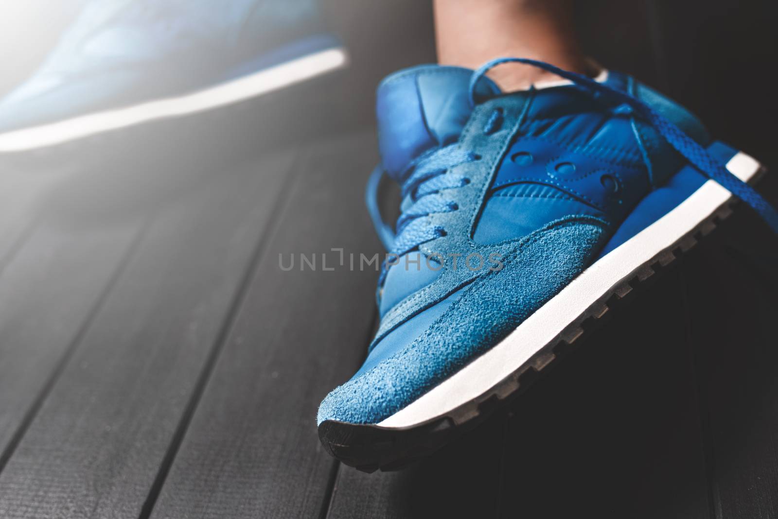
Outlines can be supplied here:
M378 423L503 339L589 263L605 235L598 221L560 223L520 242L502 270L461 291L426 331L398 345L321 402L317 423Z

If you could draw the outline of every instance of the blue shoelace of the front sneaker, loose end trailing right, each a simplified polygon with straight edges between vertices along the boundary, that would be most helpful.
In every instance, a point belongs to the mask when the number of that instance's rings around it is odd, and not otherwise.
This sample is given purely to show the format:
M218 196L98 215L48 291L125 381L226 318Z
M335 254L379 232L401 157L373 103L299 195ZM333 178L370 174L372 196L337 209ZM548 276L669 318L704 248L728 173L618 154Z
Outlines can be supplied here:
M470 100L473 106L475 106L475 85L478 80L491 68L510 62L530 64L534 67L542 68L562 78L569 79L576 85L589 89L594 96L604 96L612 101L629 106L629 109L650 123L689 163L696 166L708 178L713 179L733 193L734 196L753 207L773 229L773 232L778 234L778 211L762 195L752 186L749 186L748 183L743 182L729 172L705 148L697 144L696 141L675 126L675 124L671 123L661 113L626 92L621 92L608 85L596 82L585 75L562 70L544 61L535 61L523 57L500 57L489 61L473 73L470 80ZM486 133L489 133L490 123L492 122L492 119L490 119L486 124L484 129ZM378 185L381 176L384 175L384 169L379 166L373 170L366 191L367 208L381 241L384 242L384 246L390 253L401 256L416 249L424 242L429 242L445 235L445 229L433 227L420 218L429 214L457 210L457 205L454 202L440 196L440 190L454 189L469 183L467 178L457 176L454 172L454 166L472 162L479 158L478 155L466 152L459 148L457 144L454 144L431 150L419 156L419 158L416 158L408 165L408 168L400 176L403 202L401 205L402 214L398 219L396 232L392 230L390 225L384 223L378 208Z

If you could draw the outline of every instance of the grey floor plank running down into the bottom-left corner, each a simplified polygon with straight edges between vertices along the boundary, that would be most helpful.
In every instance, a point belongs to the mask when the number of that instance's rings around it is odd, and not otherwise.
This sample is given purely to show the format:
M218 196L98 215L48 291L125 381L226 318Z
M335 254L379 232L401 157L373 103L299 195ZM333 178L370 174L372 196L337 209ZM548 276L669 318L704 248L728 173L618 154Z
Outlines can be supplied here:
M183 172L0 474L0 516L138 517L292 159Z

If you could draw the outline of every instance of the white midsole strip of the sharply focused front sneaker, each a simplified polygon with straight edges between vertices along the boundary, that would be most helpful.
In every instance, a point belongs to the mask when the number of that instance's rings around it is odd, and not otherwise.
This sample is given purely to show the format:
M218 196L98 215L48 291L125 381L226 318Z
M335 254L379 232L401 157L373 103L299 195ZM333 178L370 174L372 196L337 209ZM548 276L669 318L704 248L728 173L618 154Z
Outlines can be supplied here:
M759 162L745 153L738 153L727 162L727 169L744 181L752 179L759 167ZM502 342L378 425L412 427L489 391L559 336L616 284L692 232L731 196L724 187L708 180L678 207L580 273Z

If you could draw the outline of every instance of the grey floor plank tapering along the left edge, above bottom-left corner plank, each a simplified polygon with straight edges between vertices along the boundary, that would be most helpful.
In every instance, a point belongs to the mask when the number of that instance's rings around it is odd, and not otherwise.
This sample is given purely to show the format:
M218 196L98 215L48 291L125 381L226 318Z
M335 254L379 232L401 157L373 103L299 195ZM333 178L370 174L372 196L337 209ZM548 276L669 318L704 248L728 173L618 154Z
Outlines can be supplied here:
M139 222L47 222L0 275L0 470L110 288Z

